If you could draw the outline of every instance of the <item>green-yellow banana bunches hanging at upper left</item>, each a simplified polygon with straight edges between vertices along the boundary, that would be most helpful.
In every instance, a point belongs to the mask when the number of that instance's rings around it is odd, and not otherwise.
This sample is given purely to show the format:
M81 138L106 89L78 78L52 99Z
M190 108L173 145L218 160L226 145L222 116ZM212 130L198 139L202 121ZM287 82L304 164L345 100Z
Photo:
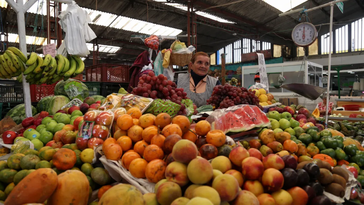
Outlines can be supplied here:
M16 47L9 47L0 55L0 78L17 77L18 82L25 80L29 84L54 84L76 77L84 68L82 59L75 55L64 57L58 54L53 58L47 54L41 58L32 52L25 57Z

